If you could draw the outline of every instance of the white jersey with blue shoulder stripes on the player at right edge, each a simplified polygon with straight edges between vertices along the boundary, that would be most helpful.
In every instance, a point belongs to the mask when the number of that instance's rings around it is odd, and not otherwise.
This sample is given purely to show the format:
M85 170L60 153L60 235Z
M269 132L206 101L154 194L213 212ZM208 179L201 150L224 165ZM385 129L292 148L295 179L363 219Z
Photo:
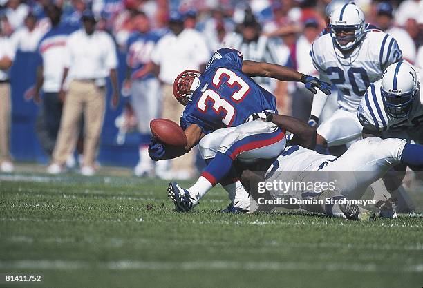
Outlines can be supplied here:
M422 83L422 74L417 73ZM365 133L381 133L385 138L397 137L421 142L423 139L423 97L417 95L406 118L394 118L384 108L382 80L372 84L357 108L359 122Z

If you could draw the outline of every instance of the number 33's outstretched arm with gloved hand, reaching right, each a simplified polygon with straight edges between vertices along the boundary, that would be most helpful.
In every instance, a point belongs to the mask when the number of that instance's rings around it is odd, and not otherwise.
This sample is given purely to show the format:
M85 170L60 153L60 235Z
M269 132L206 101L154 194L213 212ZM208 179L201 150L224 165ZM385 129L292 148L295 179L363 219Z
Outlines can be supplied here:
M302 82L308 90L316 94L316 88L319 88L323 93L330 94L330 84L316 77L299 73L297 70L265 62L256 62L245 60L242 67L243 73L248 76L261 76L278 79L280 81L288 82Z

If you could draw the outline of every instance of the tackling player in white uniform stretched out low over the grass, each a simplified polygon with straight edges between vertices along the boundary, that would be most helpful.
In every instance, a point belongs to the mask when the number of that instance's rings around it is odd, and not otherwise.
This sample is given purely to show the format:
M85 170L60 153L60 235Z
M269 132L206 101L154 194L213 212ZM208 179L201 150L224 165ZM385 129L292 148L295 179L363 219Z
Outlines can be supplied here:
M413 159L416 153L421 154L418 160ZM267 170L265 181L328 182L330 187L323 191L309 188L290 189L288 193L270 191L273 198L359 200L370 184L383 177L393 166L402 163L422 166L423 146L409 144L406 140L397 138L382 140L379 137L369 137L352 144L340 157L322 155L298 145L287 146ZM252 174L248 173L247 176L252 177ZM288 207L303 208L341 218L363 219L363 216L366 216L348 214L346 212L353 212L352 210L358 207L346 209L342 205L316 206L303 205L300 202L298 207ZM365 210L359 209L356 212L358 211L361 213Z

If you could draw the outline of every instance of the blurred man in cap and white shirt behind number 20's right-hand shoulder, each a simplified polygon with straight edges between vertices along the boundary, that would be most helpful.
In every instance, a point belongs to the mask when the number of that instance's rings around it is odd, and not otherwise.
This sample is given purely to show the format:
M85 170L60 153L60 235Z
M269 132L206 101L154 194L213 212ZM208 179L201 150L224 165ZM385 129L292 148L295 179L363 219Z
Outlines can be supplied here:
M376 26L397 40L404 59L412 64L415 62L415 43L406 30L393 26L393 7L391 3L381 2L377 4Z

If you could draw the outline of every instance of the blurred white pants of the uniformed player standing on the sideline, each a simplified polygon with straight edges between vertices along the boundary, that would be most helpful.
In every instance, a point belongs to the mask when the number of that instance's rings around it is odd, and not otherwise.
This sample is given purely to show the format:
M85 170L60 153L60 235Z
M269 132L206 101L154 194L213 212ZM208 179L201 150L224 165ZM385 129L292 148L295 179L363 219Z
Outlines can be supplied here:
M160 83L156 78L132 82L131 104L140 133L151 133L149 124L160 115L161 95Z

